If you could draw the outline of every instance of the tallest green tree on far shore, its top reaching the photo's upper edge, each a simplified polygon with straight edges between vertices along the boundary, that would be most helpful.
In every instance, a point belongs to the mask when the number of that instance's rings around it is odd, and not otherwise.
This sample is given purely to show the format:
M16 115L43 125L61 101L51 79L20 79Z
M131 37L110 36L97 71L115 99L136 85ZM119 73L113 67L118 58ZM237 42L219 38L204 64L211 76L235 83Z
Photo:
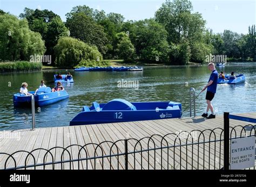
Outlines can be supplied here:
M168 33L167 41L172 46L171 59L179 63L177 59L181 59L181 64L186 63L192 57L192 60L201 62L201 56L206 51L211 50L211 46L205 46L199 44L204 43L204 31L206 21L203 19L200 13L192 13L193 6L188 0L166 0L159 10L156 12L156 20L163 25ZM185 44L183 42L186 41ZM188 45L188 47L187 47ZM201 50L198 47L203 47ZM190 55L191 51L197 52L195 55ZM199 54L202 52L202 54ZM178 54L182 55L180 58ZM189 57L189 58L188 58ZM199 59L197 59L197 57Z

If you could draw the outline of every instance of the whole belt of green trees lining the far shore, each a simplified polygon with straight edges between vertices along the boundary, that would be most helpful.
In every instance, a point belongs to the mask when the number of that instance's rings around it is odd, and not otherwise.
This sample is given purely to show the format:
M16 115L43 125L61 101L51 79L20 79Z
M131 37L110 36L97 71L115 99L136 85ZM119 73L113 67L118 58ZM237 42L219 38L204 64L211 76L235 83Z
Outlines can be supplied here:
M25 8L19 19L0 11L0 60L29 60L51 55L58 67L124 59L167 64L204 63L208 54L231 60L256 61L255 25L248 34L213 33L188 0L167 0L153 18L127 20L79 5L66 22L49 10Z

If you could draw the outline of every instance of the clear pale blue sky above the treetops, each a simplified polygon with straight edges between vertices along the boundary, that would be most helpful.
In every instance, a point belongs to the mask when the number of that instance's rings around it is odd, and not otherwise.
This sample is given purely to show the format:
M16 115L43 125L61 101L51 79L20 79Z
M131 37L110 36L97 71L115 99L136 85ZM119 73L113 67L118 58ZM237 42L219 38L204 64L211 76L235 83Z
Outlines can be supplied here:
M73 6L87 5L106 13L122 14L126 20L151 18L165 0L0 0L0 9L18 16L24 8L52 10L63 21ZM192 0L193 11L207 21L206 27L213 32L225 29L246 34L248 26L256 23L255 0Z

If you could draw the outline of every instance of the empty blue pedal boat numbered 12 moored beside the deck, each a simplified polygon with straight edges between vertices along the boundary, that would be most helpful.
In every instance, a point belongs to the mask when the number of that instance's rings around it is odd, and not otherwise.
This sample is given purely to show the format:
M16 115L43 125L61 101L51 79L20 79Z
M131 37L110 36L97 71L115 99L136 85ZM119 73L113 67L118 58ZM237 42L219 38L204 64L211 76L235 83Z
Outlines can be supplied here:
M93 102L91 107L84 106L83 111L70 121L70 125L105 124L180 117L180 103L169 101L130 103L124 99L113 99L108 103L98 104Z

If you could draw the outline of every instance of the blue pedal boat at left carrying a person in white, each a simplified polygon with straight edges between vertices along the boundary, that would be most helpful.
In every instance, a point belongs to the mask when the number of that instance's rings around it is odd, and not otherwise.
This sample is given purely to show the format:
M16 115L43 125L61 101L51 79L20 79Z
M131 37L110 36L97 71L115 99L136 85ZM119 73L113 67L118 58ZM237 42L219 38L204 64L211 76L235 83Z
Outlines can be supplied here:
M35 94L35 91L29 91L29 93ZM45 106L67 99L69 94L66 90L51 92L50 87L44 87L39 88L34 97L36 106ZM15 107L31 106L31 96L26 96L24 93L14 94L13 99Z

